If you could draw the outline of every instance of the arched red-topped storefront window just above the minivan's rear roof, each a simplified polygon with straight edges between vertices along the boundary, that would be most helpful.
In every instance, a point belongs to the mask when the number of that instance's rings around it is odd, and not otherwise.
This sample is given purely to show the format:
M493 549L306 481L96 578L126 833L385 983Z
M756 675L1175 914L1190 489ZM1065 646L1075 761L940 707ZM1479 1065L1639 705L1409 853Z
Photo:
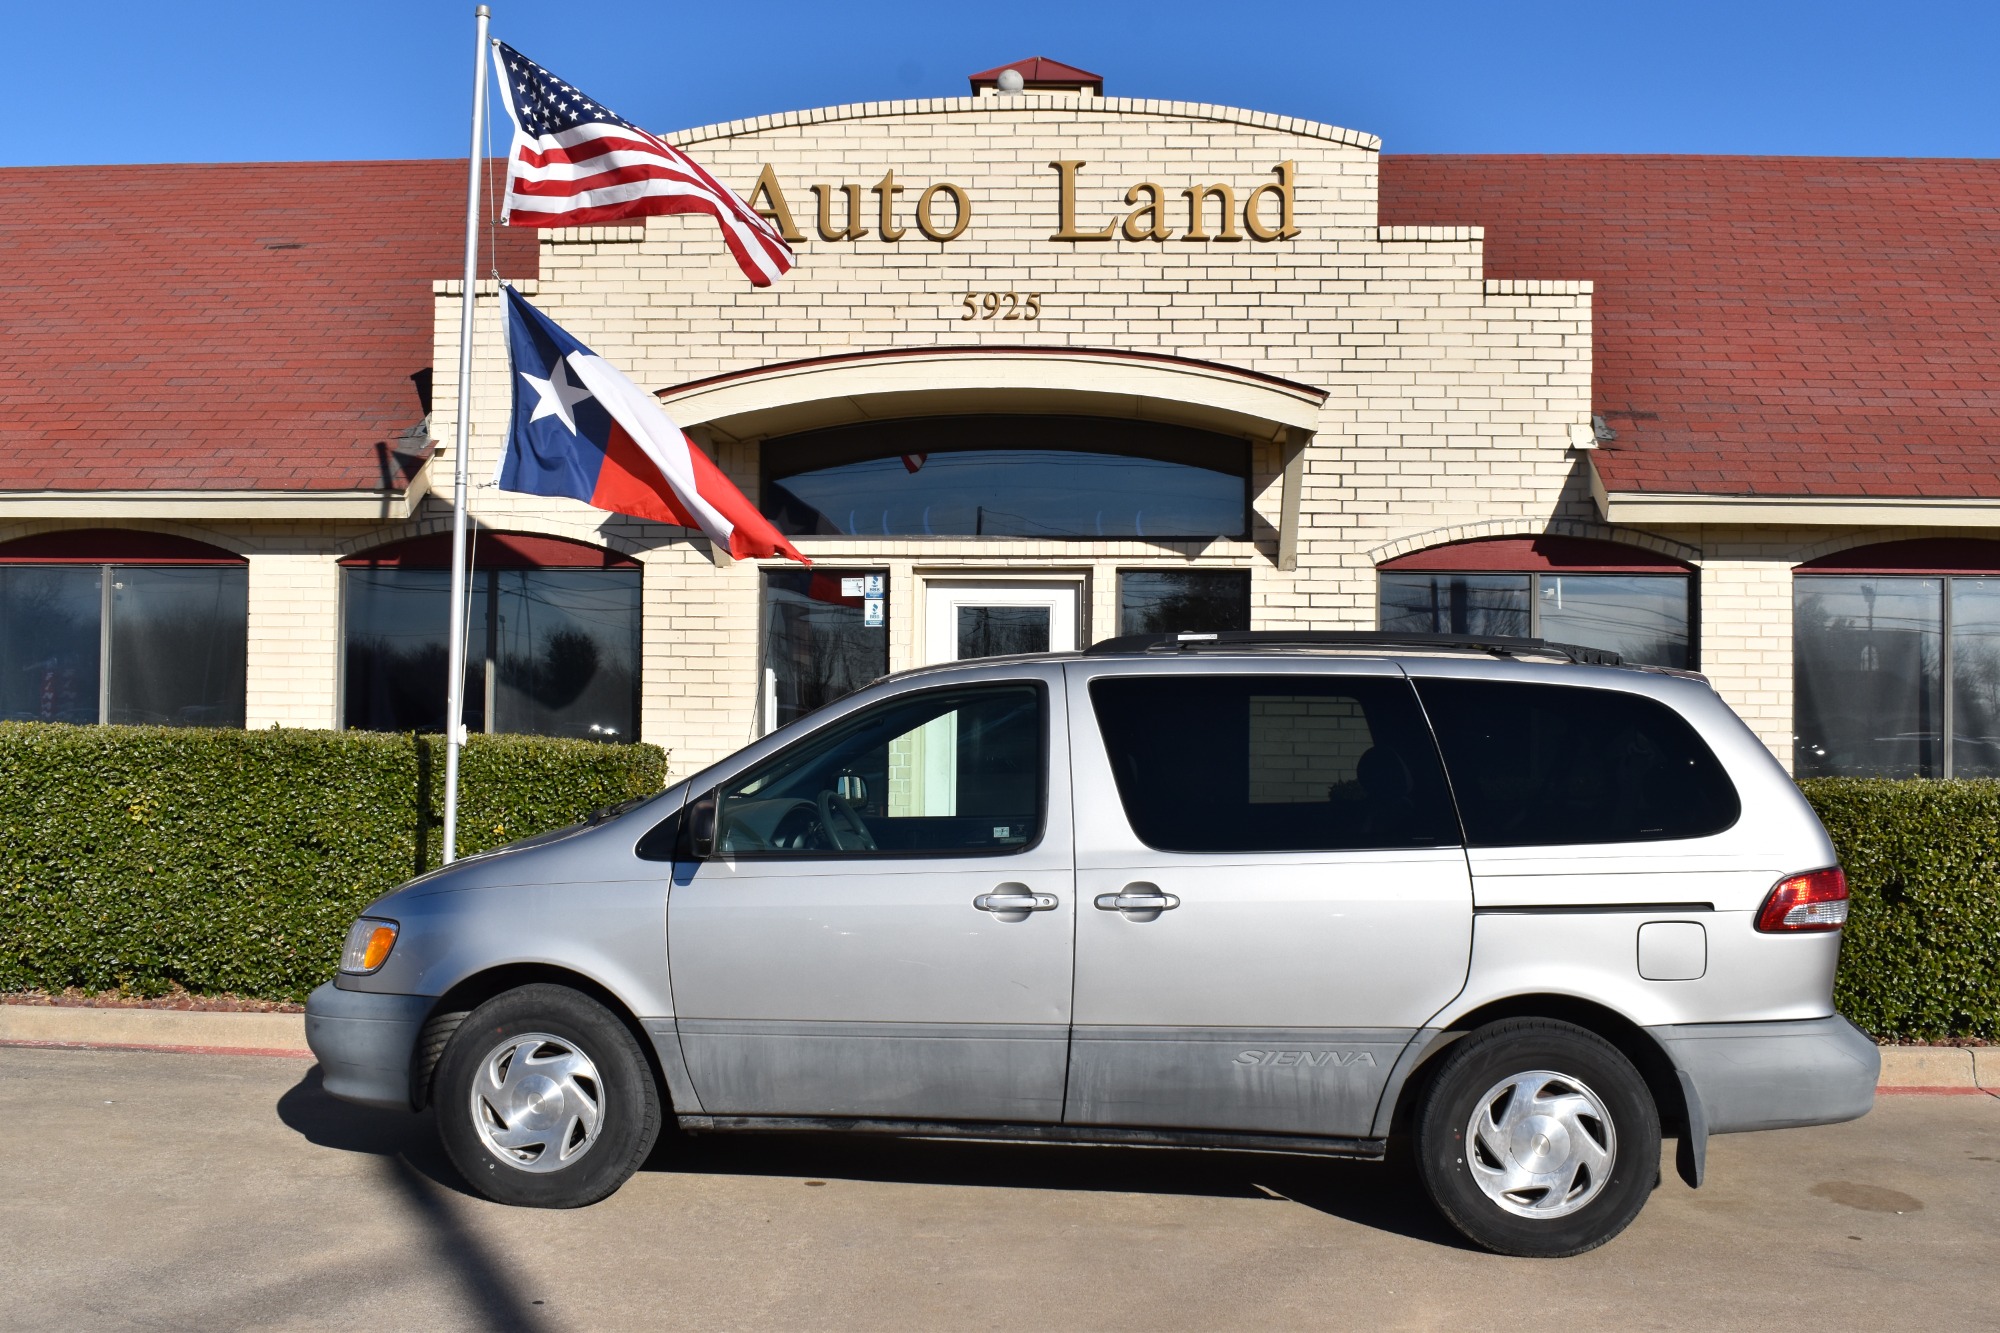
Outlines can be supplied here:
M1386 630L1546 638L1694 666L1694 578L1648 550L1556 536L1458 542L1390 560L1380 580Z

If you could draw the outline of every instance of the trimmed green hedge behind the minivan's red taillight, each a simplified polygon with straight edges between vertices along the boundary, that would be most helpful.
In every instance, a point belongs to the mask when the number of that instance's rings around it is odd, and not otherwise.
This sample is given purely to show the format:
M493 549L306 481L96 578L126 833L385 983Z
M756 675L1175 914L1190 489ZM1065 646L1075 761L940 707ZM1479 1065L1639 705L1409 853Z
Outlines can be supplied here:
M2000 1037L2000 783L1808 779L1852 905L1834 1003L1874 1037Z

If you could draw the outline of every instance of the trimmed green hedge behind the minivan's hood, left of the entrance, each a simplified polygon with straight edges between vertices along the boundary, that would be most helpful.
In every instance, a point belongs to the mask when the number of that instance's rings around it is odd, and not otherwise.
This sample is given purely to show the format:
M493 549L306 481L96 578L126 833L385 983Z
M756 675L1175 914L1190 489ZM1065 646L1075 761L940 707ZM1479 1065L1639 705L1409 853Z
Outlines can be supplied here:
M650 745L474 737L460 853L658 791ZM302 999L438 865L442 737L0 723L0 991Z

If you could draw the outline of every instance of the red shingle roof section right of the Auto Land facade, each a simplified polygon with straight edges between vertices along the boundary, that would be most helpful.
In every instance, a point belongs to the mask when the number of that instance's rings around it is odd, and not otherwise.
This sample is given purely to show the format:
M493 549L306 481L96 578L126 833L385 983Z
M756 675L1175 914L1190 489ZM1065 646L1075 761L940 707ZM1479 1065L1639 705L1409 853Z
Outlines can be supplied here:
M1608 490L2000 494L2000 162L1384 156L1380 200L1596 282Z

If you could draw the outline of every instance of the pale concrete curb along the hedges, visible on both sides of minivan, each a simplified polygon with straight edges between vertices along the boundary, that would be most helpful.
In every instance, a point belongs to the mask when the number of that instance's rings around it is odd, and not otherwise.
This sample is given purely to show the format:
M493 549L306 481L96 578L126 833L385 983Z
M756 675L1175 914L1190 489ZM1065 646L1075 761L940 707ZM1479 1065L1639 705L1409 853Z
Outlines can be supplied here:
M312 1055L306 1015L0 1005L0 1045ZM1882 1047L1884 1093L2000 1095L2000 1047Z

